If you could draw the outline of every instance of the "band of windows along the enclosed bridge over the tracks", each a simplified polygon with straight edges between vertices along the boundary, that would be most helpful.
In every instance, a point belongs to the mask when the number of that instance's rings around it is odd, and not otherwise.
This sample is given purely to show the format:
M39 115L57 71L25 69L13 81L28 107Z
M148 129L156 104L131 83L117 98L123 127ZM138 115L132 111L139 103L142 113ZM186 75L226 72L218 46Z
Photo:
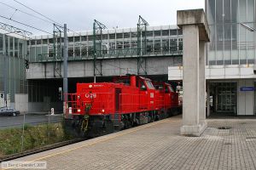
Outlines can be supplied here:
M183 35L177 26L148 26L147 32L143 32L144 36L146 49L142 47L143 54L182 54ZM93 31L68 33L68 58L93 59L93 38ZM60 38L56 37L54 43L52 35L32 37L28 42L30 62L52 60L54 53L59 53L54 52L59 41ZM137 48L137 28L102 30L102 58L137 56Z

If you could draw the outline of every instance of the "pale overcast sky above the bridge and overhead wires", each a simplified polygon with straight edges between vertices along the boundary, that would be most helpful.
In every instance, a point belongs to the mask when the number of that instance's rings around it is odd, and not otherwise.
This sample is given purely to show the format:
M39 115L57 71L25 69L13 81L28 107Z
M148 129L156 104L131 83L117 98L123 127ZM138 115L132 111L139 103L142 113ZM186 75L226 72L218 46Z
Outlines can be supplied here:
M99 20L108 28L118 26L136 27L138 15L148 21L149 26L165 26L176 24L176 13L179 9L204 8L205 0L17 0L20 3L48 16L58 23L67 23L73 31L91 30L93 20ZM6 3L13 8L9 8ZM0 0L2 16L12 18L35 26L44 31L52 32L53 26L44 20L38 20L26 13L42 16L21 6L14 0ZM47 19L45 19L47 20ZM0 21L12 26L32 31L34 34L45 34L42 31L32 30L10 20L0 18Z

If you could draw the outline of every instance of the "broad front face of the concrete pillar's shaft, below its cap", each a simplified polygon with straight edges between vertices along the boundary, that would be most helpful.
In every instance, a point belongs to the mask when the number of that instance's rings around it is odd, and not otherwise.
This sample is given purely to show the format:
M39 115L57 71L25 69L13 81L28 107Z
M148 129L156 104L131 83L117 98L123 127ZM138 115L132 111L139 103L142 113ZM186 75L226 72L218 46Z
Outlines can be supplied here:
M198 61L198 26L183 26L183 128L199 123Z

